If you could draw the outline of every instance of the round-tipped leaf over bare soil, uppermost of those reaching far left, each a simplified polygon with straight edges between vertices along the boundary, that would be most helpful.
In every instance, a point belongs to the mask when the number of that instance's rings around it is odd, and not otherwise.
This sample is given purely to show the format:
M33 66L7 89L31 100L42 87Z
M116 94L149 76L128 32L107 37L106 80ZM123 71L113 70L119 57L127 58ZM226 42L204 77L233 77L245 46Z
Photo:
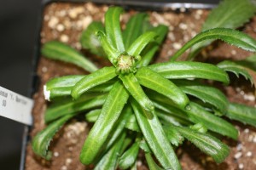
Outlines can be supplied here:
M67 63L72 63L83 68L85 71L93 72L97 70L96 65L94 65L89 59L84 58L84 56L78 51L62 42L46 42L41 48L41 52L49 59L57 59Z

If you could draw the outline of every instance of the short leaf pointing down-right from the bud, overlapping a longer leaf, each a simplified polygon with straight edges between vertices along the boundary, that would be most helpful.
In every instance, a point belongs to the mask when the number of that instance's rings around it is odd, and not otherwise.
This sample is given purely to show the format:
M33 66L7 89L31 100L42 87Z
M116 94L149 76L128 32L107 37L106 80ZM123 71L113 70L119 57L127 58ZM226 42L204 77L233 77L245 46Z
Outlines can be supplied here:
M137 100L137 102L143 106L146 110L146 116L148 118L152 117L152 112L154 111L154 105L148 99L148 96L144 93L143 88L137 82L137 78L133 74L128 75L119 75L119 78L122 80L125 88L129 91L131 96Z

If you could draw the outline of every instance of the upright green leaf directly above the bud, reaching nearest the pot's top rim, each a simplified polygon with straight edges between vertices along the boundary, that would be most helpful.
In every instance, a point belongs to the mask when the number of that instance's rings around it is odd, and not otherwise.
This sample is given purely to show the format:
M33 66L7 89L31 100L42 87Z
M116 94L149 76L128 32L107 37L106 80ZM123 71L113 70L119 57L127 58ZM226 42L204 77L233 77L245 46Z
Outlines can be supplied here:
M120 53L125 51L121 27L119 24L119 17L122 12L123 8L110 7L105 14L105 29L108 42L110 42L114 48L118 49Z

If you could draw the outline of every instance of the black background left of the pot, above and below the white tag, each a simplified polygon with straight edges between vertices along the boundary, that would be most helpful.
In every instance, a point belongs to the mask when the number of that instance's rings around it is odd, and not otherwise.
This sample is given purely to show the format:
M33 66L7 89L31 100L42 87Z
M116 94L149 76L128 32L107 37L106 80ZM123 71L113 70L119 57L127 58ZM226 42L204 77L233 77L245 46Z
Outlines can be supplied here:
M201 2L214 1L218 2ZM29 95L31 87L32 57L38 33L40 2L0 1L0 86L25 96ZM0 116L1 170L19 169L23 128L24 125L19 122Z

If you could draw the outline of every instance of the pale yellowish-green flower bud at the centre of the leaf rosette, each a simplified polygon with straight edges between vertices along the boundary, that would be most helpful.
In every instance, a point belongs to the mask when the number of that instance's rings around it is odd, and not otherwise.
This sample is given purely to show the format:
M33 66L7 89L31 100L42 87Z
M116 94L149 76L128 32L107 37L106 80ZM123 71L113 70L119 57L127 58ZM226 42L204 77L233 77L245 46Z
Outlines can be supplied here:
M120 54L119 57L116 59L116 71L118 74L129 74L135 73L136 69L136 62L139 60L140 57L134 57L128 54Z

